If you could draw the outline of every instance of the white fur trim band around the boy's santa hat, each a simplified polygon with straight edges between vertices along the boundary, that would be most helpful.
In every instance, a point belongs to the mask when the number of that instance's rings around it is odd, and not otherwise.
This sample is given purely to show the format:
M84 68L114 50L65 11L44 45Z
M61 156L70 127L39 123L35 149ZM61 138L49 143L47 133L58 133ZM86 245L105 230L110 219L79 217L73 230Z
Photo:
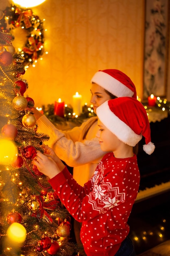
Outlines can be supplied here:
M109 108L108 101L105 101L100 108L96 108L96 113L100 121L129 146L134 147L141 139L142 134L137 135L127 124L120 120Z

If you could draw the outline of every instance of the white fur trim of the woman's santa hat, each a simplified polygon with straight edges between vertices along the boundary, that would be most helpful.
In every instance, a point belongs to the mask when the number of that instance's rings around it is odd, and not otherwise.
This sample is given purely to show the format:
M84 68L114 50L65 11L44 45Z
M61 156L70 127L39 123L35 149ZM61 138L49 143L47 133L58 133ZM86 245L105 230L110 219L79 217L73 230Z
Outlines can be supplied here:
M91 80L91 83L92 82L97 83L116 97L132 97L134 94L126 85L102 71L98 71L94 74Z

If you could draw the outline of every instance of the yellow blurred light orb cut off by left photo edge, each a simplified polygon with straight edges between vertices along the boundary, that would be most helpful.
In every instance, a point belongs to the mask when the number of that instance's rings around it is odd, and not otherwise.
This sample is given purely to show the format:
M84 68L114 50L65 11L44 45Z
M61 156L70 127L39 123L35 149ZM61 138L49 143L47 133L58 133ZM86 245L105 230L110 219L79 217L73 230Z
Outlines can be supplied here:
M8 139L0 139L0 164L11 164L17 159L16 144Z

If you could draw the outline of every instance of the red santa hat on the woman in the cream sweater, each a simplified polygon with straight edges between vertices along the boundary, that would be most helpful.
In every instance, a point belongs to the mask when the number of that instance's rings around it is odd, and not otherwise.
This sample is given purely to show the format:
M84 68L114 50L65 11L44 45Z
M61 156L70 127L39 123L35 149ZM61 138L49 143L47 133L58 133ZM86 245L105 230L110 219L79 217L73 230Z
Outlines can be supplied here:
M133 97L136 99L136 88L129 76L120 70L99 70L91 80L116 97Z

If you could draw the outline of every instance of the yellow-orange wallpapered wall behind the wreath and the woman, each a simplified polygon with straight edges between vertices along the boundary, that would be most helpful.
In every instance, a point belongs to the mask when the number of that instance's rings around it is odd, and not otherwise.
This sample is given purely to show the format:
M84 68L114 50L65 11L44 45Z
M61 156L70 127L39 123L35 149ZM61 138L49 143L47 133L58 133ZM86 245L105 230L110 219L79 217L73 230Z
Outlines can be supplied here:
M48 29L48 55L23 77L36 106L72 104L75 92L89 103L93 74L107 68L130 76L142 97L144 0L46 0L32 10Z

